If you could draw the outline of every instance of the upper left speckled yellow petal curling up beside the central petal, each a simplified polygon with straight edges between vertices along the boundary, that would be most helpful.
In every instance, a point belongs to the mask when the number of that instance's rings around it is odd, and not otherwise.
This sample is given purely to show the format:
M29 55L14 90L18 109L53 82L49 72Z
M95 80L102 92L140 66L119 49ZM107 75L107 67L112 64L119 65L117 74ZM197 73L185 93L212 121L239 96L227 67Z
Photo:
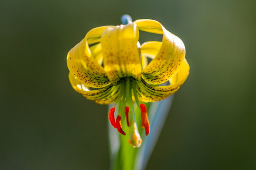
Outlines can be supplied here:
M82 84L90 87L105 87L110 81L104 68L94 58L89 45L101 41L101 34L111 26L101 26L89 31L85 38L74 46L67 55L67 66L71 74Z

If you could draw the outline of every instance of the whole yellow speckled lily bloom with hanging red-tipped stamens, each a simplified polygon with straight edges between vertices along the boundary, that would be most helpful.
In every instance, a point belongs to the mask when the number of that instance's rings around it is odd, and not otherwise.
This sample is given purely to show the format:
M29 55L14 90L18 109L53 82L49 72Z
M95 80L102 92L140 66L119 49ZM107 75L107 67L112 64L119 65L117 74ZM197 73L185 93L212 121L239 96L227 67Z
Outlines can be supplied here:
M162 42L138 43L139 31L163 34ZM148 64L147 58L152 59ZM99 104L119 104L110 109L111 125L126 135L121 115L126 116L129 143L139 147L133 102L141 109L142 127L150 132L146 107L140 102L156 102L175 93L189 75L185 46L158 21L139 19L127 25L91 29L67 55L69 81L74 90ZM157 86L169 82L170 85ZM91 88L91 89L90 89ZM129 114L130 113L130 114Z

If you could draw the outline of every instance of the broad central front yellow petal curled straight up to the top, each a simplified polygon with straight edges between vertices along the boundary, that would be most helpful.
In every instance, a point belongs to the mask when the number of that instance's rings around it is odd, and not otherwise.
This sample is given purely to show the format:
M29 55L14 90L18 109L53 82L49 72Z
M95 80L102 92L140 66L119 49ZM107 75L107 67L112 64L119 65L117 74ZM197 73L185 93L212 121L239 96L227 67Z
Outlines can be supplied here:
M132 76L141 79L141 64L137 49L138 29L135 23L107 28L102 34L103 64L113 85L120 78Z

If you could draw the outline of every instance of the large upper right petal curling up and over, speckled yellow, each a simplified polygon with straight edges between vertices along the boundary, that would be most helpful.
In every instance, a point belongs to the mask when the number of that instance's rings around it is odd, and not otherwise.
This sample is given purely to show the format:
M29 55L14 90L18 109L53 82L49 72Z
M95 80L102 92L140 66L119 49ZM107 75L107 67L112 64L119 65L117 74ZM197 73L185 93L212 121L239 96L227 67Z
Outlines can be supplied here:
M142 77L152 85L165 83L181 67L185 58L185 46L179 37L167 31L158 21L141 19L135 22L139 30L163 34L161 46L154 47L152 44L146 44L151 45L151 51L158 52L148 66L142 70Z

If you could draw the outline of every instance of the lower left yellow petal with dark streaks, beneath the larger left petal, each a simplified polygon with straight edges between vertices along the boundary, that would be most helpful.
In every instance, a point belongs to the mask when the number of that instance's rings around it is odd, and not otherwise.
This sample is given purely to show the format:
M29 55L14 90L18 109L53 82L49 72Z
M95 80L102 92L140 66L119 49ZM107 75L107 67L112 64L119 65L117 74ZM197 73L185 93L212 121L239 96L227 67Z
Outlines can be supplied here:
M116 102L120 94L120 85L108 85L101 89L90 90L88 86L80 83L71 73L68 75L73 89L85 98L99 104L110 104Z

